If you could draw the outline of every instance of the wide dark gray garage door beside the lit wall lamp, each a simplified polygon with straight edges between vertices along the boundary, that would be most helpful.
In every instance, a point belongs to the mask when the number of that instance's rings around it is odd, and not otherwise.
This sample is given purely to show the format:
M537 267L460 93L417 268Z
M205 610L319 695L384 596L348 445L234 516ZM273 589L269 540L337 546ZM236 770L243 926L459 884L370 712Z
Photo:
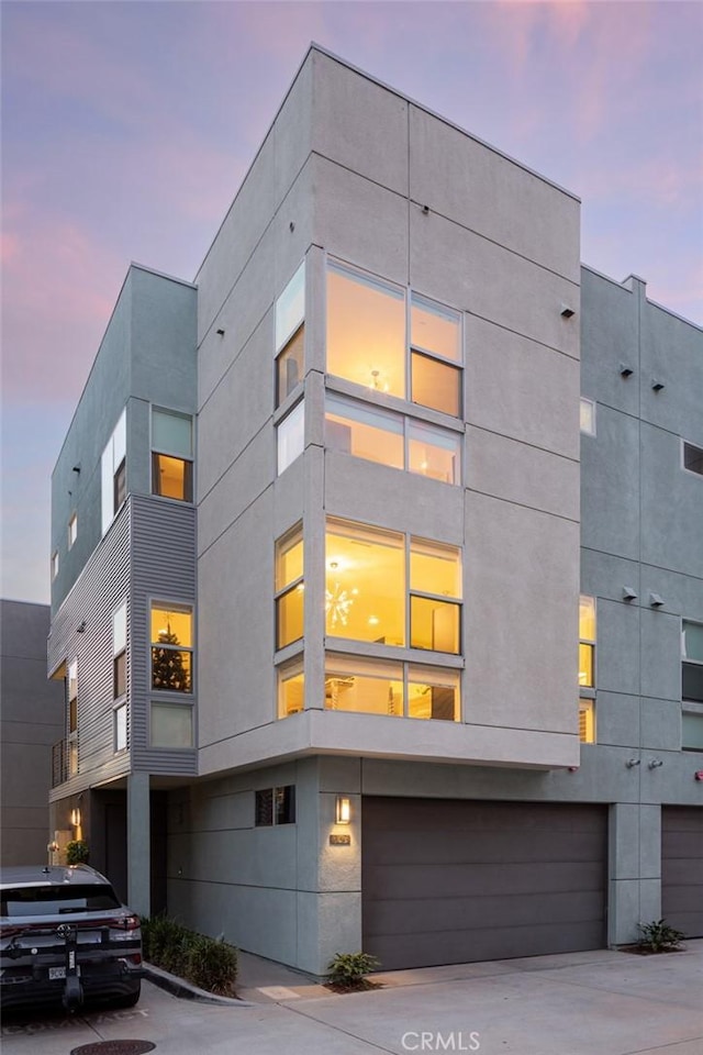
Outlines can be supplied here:
M361 855L386 969L605 944L605 807L368 797Z

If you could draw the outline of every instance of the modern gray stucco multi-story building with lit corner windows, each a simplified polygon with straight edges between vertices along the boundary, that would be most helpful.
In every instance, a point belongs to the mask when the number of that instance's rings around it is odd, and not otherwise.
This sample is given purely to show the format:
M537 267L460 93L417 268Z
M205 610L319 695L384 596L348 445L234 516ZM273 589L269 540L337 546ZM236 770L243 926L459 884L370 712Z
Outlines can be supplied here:
M169 912L313 973L361 945L411 966L626 943L665 909L702 933L703 701L681 687L682 635L703 659L700 327L581 266L573 195L315 46L197 304L145 274L158 310L115 309L55 474L57 546L72 466L126 406L125 503L101 536L86 490L49 648L60 671L103 628L85 704L79 679L94 765L53 798L126 787L135 908L150 793ZM193 503L152 493L149 403L197 420ZM154 598L197 607L197 736L166 753Z

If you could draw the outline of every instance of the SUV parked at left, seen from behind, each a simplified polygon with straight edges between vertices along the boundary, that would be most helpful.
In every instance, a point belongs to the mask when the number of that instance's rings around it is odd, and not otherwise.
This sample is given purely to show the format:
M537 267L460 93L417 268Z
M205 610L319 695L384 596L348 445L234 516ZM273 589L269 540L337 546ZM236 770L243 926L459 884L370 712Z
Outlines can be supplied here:
M0 1002L83 1000L132 1007L140 999L138 915L87 865L0 869Z

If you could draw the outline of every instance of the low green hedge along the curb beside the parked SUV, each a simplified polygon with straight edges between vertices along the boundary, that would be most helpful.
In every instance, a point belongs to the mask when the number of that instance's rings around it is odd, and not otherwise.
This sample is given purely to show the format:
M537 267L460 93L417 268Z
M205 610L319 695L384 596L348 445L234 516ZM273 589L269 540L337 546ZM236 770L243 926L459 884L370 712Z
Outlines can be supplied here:
M230 995L237 978L237 951L166 915L142 920L144 958L209 992Z

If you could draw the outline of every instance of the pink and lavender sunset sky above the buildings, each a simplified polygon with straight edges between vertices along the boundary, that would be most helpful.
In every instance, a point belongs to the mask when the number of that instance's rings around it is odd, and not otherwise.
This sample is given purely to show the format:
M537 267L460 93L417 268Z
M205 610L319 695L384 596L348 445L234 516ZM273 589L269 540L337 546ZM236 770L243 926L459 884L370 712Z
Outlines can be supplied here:
M192 279L308 45L582 200L581 259L703 324L699 2L12 2L2 18L2 586L131 260Z

